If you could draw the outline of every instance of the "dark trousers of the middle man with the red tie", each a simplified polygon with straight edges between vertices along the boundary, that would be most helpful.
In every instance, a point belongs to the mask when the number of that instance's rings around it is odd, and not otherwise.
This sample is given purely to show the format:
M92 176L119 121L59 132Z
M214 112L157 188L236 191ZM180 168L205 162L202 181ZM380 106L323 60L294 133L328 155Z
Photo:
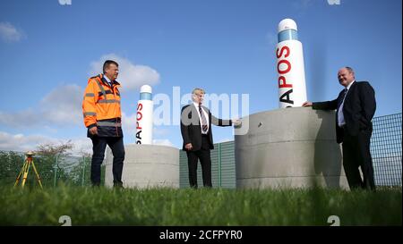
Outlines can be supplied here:
M189 184L191 188L197 189L197 162L200 160L203 186L210 188L211 184L211 158L210 139L208 136L201 136L201 149L197 151L186 151L187 165L189 168Z

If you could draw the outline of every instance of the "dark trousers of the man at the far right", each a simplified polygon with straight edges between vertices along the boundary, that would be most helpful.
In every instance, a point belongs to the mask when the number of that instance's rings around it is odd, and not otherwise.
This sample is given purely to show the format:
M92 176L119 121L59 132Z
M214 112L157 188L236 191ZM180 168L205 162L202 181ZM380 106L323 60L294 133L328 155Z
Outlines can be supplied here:
M343 166L350 189L375 189L373 179L373 159L370 153L372 130L361 130L358 135L351 136L344 130ZM364 179L358 167L361 167Z

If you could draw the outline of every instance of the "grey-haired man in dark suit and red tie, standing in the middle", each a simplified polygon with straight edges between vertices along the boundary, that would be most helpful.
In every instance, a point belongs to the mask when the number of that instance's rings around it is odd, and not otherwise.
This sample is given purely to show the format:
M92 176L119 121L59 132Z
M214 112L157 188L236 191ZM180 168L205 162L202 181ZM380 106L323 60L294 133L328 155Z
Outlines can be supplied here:
M181 133L184 139L183 150L186 151L189 168L189 184L197 189L197 161L200 160L204 187L211 184L210 149L214 149L211 123L218 126L239 125L239 120L221 120L211 115L210 110L201 105L204 99L204 90L194 88L192 105L185 105L181 114Z

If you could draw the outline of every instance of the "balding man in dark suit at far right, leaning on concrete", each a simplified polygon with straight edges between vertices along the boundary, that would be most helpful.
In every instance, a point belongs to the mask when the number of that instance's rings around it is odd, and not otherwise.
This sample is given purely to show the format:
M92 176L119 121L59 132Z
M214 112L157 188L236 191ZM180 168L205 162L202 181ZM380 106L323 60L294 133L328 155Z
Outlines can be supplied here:
M340 85L345 87L332 101L311 103L313 109L336 109L336 137L343 143L343 166L350 189L375 189L370 139L373 132L373 114L376 102L373 87L367 81L356 81L352 68L339 70ZM361 167L364 179L358 167Z

